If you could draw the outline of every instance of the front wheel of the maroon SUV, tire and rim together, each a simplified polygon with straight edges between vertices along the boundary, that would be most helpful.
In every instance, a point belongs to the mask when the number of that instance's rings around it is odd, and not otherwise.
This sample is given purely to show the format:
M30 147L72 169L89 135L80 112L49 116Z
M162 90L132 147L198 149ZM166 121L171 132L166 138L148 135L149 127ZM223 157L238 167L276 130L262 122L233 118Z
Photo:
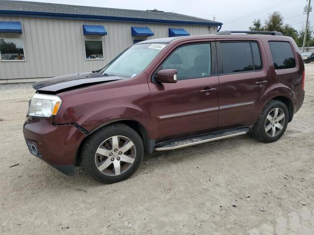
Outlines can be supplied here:
M83 167L92 178L112 184L128 179L137 170L144 147L136 131L116 123L93 133L81 154Z

